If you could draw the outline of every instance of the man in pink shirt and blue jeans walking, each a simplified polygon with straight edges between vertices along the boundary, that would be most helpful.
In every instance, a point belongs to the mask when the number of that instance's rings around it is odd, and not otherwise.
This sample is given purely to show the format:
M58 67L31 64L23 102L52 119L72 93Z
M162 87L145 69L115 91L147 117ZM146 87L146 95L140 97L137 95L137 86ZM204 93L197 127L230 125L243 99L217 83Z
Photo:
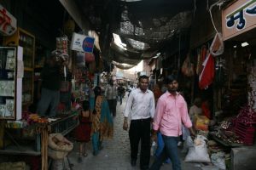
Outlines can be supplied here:
M150 167L160 169L162 163L169 157L172 161L172 170L181 170L181 163L177 152L177 142L182 134L182 123L189 128L192 137L195 136L192 123L189 119L187 103L181 94L177 93L178 82L174 76L166 78L167 91L158 99L154 115L152 138L156 140L156 133L160 131L165 148Z

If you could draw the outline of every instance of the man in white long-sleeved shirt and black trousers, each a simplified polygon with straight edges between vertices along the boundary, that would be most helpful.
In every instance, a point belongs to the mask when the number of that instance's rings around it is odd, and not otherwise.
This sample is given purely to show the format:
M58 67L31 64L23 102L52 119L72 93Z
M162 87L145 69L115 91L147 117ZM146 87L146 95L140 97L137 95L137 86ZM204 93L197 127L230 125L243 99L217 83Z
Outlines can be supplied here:
M124 111L123 129L128 129L131 114L129 139L131 145L131 166L136 166L138 144L141 140L140 167L148 169L150 159L150 123L154 117L154 94L148 90L148 77L139 77L139 88L131 91Z

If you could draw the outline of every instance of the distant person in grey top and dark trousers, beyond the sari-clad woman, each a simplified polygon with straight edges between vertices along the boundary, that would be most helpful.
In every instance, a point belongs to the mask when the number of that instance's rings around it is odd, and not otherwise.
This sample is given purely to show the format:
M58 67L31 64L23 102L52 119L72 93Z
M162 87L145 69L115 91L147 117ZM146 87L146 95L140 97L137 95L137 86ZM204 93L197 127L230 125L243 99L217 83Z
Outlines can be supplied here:
M105 97L108 99L109 110L113 116L116 116L116 97L117 97L117 88L113 84L113 80L109 81L109 84L105 91Z

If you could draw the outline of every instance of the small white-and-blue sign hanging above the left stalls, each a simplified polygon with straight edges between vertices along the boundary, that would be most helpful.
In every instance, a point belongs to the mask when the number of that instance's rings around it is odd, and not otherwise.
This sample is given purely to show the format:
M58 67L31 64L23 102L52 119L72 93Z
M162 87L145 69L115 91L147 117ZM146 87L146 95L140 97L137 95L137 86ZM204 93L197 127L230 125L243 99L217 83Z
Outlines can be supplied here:
M73 32L71 49L75 51L82 51L85 53L92 53L94 41L94 37L87 37L82 34Z

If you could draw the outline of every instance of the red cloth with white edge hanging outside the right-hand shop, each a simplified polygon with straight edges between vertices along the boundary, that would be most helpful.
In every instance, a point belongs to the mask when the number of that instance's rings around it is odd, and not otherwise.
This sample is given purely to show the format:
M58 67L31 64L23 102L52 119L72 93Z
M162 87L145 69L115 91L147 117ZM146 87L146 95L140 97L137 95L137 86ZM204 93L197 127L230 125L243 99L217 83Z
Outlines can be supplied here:
M212 84L215 73L215 65L212 54L207 54L207 59L203 62L203 70L199 77L199 88L207 89L210 84Z

